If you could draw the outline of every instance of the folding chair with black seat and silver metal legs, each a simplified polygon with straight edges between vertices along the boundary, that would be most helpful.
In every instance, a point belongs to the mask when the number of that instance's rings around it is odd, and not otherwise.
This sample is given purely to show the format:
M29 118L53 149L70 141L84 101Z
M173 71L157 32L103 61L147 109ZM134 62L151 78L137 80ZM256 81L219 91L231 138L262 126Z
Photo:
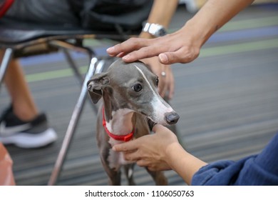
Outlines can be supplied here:
M138 34L138 32L135 31L129 33L130 36L133 34ZM58 49L62 49L66 54L68 64L71 66L74 74L81 83L81 93L78 97L76 106L73 109L73 114L69 121L68 129L66 130L61 150L58 153L48 185L56 184L63 163L66 159L68 147L71 144L73 134L75 133L86 100L86 83L91 79L93 74L103 71L103 58L98 57L93 49L83 46L83 39L111 39L115 41L123 41L127 39L127 37L128 36L119 34L118 32L91 31L81 29L80 27L61 29L61 26L45 26L30 23L19 24L16 21L11 20L0 21L0 49L4 50L4 57L0 65L0 89L11 58L46 54L52 51L58 51ZM88 54L89 64L84 78L79 73L73 59L71 59L69 50L81 51ZM94 110L96 111L96 107L94 107Z

